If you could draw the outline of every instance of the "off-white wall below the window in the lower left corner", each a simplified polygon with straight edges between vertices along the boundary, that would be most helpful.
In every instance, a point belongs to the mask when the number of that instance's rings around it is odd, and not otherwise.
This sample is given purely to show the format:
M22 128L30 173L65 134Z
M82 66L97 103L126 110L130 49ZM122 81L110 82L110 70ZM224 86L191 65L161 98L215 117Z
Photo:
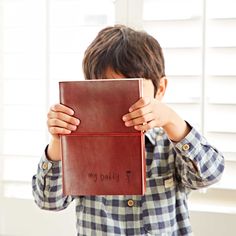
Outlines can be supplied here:
M60 212L39 209L33 200L1 199L0 236L76 235L74 204Z

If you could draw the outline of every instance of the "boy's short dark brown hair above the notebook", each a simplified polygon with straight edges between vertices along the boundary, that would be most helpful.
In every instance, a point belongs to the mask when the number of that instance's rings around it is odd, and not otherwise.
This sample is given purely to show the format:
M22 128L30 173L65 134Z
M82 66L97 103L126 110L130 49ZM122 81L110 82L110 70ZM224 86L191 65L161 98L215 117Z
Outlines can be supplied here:
M85 79L105 78L108 68L126 78L152 80L155 94L160 78L165 76L164 57L157 40L124 25L104 28L85 51Z

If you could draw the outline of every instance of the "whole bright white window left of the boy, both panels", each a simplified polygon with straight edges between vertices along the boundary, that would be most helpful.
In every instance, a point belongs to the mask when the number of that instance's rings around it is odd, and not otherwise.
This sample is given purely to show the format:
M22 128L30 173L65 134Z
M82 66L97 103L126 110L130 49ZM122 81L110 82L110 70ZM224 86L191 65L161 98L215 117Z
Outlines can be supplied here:
M115 8L111 0L1 3L0 196L28 199L58 81L83 79L83 52L101 28L114 24Z

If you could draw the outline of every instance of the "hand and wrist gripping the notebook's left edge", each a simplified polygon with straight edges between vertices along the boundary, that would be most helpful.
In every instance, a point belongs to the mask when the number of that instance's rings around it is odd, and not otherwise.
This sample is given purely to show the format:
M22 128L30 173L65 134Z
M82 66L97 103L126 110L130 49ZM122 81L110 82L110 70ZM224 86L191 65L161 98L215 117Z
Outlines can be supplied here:
M52 135L48 145L47 155L50 160L61 160L60 135L70 134L79 125L79 119L73 117L74 111L61 104L53 105L48 112L47 126Z

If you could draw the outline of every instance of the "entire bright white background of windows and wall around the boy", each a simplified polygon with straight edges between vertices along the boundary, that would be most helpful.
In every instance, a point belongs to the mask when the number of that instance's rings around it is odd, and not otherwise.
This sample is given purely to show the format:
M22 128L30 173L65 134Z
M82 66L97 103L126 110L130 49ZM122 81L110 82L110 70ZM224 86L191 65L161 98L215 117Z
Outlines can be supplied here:
M236 235L235 9L234 0L0 0L0 236L76 235L74 205L38 209L31 178L58 81L83 80L84 50L116 23L160 42L165 102L225 155L222 180L190 195L194 235Z

